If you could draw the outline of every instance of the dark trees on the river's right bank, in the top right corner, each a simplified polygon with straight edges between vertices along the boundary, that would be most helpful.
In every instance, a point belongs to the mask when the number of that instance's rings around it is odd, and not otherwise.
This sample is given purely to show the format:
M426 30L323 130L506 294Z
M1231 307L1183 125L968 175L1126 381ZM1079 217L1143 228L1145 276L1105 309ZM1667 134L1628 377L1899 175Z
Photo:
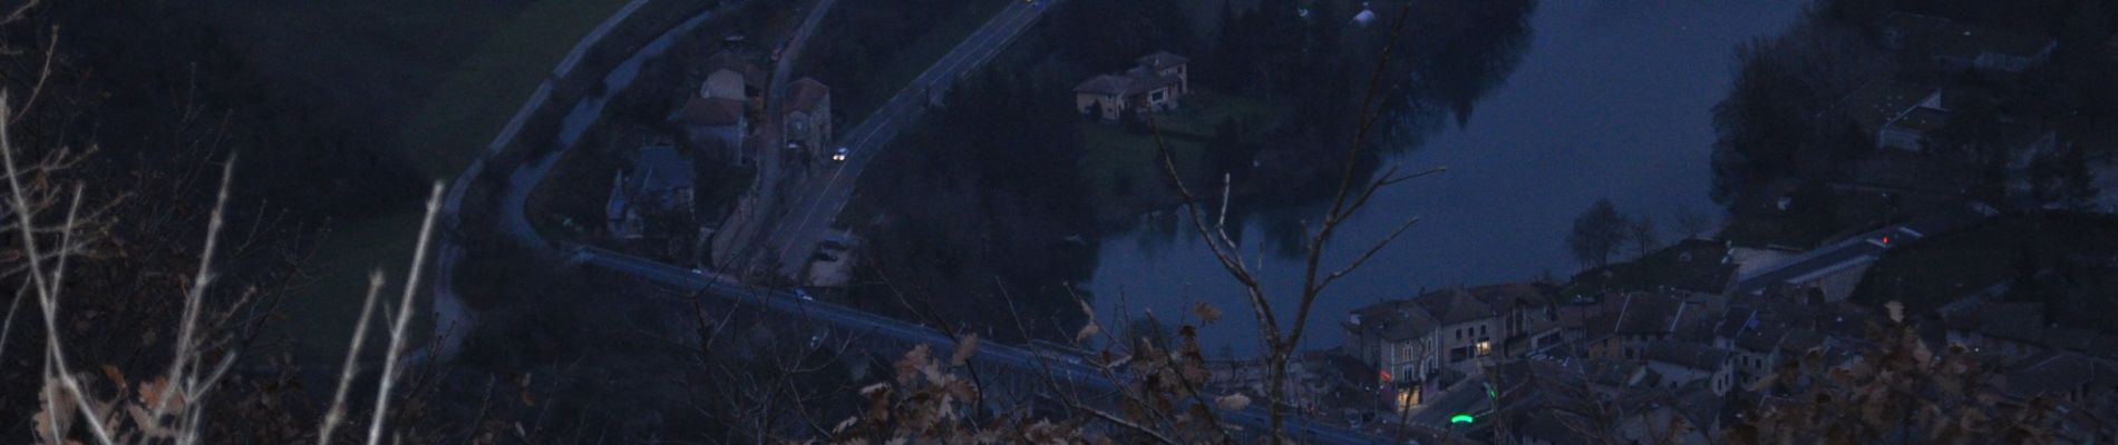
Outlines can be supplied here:
M1883 44L1885 17L1917 13L2050 36L2050 63L2021 76L1938 70L1925 49ZM2059 133L2065 165L2107 152L2118 133L2118 59L2105 46L2118 15L2103 0L1961 2L1961 0L1824 0L1802 23L1777 38L1737 49L1735 86L1713 110L1713 200L1735 202L1773 181L1828 181L1847 175L1874 152L1874 135L1857 129L1845 101L1872 82L1944 86L1951 116L1929 135L1929 150L1978 175L1978 198L2002 198L2008 160L2006 124L2038 122ZM1872 131L1872 129L1866 129ZM2044 202L2084 200L2086 171L2033 171L2052 188ZM2067 196L2071 194L2071 196Z

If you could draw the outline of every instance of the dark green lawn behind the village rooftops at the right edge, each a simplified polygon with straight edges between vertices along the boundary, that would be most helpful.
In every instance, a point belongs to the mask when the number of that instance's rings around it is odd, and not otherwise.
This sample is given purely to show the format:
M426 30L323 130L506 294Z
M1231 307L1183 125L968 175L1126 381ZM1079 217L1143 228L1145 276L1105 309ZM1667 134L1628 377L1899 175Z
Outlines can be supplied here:
M2046 266L2069 255L2107 259L2118 253L2118 221L2084 215L2025 215L1942 234L1883 255L1853 291L1853 302L1879 306L1900 299L1913 312L1927 312L2014 278L2025 253L2033 253ZM2118 289L2110 285L2103 280L2103 289L2071 289L2050 297L2093 295L2110 299L2110 295L2118 295Z

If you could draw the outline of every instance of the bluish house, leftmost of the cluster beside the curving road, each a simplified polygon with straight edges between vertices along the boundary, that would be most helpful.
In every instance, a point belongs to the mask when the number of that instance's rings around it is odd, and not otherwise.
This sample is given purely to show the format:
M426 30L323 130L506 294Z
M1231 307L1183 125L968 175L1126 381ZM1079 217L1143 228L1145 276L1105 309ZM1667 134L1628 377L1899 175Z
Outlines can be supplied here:
M604 207L610 234L625 240L644 238L648 219L688 215L695 186L690 158L678 148L642 148L631 169L612 179L610 205Z

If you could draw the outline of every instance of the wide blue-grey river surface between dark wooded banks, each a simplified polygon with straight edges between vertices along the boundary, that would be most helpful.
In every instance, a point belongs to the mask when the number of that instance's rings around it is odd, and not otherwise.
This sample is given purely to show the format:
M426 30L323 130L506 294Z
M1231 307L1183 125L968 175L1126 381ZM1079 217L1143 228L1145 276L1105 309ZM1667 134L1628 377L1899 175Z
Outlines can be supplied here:
M1347 221L1326 264L1351 259L1402 217L1425 217L1317 304L1305 342L1313 348L1339 342L1345 310L1421 287L1572 272L1561 249L1565 226L1595 198L1656 217L1711 209L1709 110L1726 95L1730 49L1779 32L1800 0L1419 0L1415 11L1398 53L1402 80L1387 84L1396 93L1387 131L1360 173L1389 165L1451 171L1379 194L1368 213ZM1303 219L1322 215L1328 198L1264 192L1228 209L1231 236L1243 238L1248 257L1264 255L1258 266L1271 295L1292 299L1303 264L1290 257L1300 253ZM1175 211L1106 236L1091 285L1099 295L1125 289L1133 312L1211 302L1231 316L1201 337L1256 335L1252 318L1237 316L1248 310L1241 287ZM1284 321L1292 316L1294 302L1275 304L1288 308ZM1114 304L1099 312L1118 316ZM1226 344L1254 350L1254 342Z

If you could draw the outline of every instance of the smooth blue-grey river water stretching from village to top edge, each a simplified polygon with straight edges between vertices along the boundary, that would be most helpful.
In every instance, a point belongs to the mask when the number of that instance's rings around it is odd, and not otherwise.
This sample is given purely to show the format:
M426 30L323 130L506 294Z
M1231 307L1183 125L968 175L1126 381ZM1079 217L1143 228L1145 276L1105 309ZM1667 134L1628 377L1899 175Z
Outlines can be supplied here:
M1544 0L1512 72L1491 78L1474 103L1457 103L1419 146L1385 162L1404 169L1449 167L1375 198L1341 226L1324 270L1356 257L1404 217L1421 224L1339 280L1311 312L1305 346L1339 346L1339 323L1353 308L1413 297L1421 289L1531 280L1578 270L1565 251L1574 217L1597 198L1629 215L1650 215L1663 238L1677 238L1671 215L1720 215L1707 200L1711 108L1728 93L1737 44L1779 34L1800 13L1798 0ZM1444 82L1455 84L1455 82ZM1320 215L1320 207L1279 209ZM1097 318L1188 312L1209 302L1226 316L1201 329L1207 354L1258 350L1256 321L1241 287L1173 217L1144 217L1139 228L1103 238L1091 289ZM1258 262L1269 232L1243 224L1248 257ZM1273 228L1273 230L1269 230ZM1303 264L1262 247L1262 276L1286 327Z

